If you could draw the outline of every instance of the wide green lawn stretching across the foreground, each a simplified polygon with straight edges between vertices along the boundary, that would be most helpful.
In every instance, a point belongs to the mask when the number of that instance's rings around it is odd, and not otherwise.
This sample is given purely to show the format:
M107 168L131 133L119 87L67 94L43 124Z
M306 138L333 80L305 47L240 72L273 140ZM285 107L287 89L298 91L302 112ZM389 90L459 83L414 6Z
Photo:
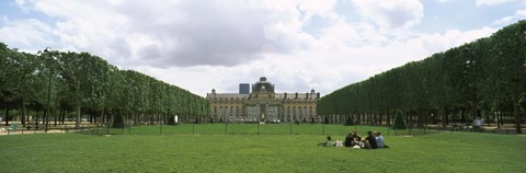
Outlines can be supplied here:
M0 172L524 172L526 169L525 136L477 132L385 136L391 148L379 150L317 147L323 138L321 134L0 136Z

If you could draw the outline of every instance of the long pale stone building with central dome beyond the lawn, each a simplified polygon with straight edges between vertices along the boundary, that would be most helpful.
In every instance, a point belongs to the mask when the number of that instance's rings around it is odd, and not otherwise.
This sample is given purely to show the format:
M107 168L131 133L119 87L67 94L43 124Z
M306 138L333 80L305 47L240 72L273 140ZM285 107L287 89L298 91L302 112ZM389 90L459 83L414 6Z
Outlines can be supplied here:
M210 101L210 119L213 122L248 123L288 123L320 122L316 114L316 101L320 93L315 90L306 93L275 93L274 84L261 77L252 84L250 93L211 93L206 94Z

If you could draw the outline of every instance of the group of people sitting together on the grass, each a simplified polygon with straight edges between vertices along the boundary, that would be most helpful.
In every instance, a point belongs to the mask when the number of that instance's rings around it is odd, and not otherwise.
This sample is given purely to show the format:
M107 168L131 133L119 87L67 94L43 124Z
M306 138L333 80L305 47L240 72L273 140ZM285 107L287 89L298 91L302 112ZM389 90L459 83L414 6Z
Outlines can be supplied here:
M354 130L353 132L348 132L345 137L345 141L336 140L335 142L331 141L332 138L330 135L327 135L327 141L318 143L318 146L325 146L325 147L348 147L355 149L382 149L389 148L384 143L384 137L379 131L367 131L367 137L362 138L358 135L358 131Z

